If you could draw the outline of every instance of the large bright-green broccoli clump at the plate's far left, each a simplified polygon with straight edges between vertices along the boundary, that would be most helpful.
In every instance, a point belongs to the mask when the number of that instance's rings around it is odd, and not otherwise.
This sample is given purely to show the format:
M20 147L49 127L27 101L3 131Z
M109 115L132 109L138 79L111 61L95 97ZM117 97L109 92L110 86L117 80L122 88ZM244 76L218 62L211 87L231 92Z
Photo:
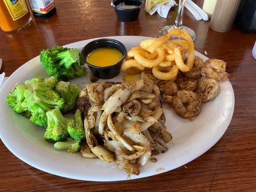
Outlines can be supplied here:
M62 110L64 107L64 99L54 91L57 82L55 77L26 80L24 85L16 86L9 93L6 101L17 113L30 118L36 125L46 127L46 112L54 108Z

